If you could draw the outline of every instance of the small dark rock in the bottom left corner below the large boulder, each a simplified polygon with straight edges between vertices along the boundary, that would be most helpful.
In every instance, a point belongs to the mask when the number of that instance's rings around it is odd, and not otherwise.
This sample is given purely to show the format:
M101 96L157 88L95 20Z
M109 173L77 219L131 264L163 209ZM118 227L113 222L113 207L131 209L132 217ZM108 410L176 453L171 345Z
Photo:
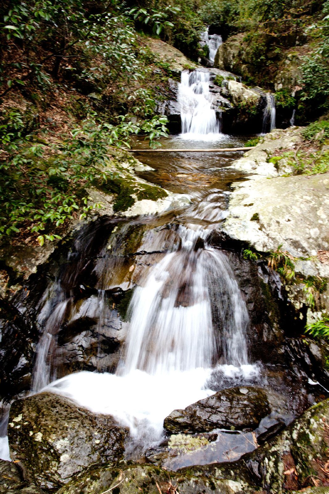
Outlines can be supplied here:
M24 480L23 472L10 461L0 460L0 494L42 494L35 484Z

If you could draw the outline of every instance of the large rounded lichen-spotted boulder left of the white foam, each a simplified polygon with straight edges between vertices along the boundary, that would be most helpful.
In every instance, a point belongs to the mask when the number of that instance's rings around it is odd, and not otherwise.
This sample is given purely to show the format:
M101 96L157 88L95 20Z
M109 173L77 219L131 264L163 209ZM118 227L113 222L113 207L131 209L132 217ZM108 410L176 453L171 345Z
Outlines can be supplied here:
M112 416L48 392L14 402L9 414L11 457L45 489L61 487L92 463L120 460L126 433Z

